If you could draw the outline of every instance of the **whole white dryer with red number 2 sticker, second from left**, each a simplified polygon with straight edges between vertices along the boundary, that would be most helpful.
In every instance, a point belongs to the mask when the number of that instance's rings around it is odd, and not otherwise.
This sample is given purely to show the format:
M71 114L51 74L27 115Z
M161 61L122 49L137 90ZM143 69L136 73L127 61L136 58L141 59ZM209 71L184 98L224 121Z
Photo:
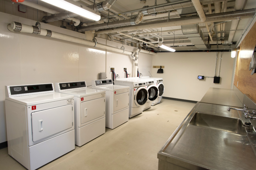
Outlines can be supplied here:
M55 83L56 91L74 96L75 144L82 146L105 133L104 90L87 88L86 82Z

